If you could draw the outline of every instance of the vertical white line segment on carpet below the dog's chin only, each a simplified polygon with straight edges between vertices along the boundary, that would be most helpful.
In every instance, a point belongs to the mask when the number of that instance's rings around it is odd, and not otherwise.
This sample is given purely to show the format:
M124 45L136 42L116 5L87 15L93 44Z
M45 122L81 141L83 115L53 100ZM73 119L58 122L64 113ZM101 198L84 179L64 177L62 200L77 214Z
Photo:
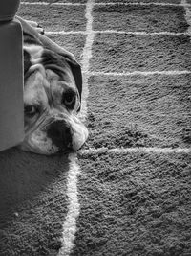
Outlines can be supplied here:
M66 194L69 198L68 213L63 223L62 247L57 256L69 256L74 247L74 238L76 232L76 219L79 216L80 205L77 198L77 176L80 174L80 168L76 164L76 155L69 155L69 173L67 178Z

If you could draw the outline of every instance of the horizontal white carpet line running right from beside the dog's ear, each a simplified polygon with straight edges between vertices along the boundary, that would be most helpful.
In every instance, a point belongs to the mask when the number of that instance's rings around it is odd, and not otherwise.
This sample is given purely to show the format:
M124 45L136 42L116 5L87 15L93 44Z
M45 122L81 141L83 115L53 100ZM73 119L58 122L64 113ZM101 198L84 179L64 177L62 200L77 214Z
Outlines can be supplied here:
M162 76L180 76L191 74L189 70L169 70L169 71L132 71L132 72L88 72L89 76L154 76L154 75L162 75Z

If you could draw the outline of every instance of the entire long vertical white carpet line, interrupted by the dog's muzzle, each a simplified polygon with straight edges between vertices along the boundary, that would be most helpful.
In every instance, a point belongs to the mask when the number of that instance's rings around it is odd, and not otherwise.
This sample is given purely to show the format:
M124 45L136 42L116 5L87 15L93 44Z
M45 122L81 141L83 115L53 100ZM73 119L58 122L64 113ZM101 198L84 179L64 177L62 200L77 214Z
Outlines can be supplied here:
M82 91L82 103L81 111L79 114L80 119L83 121L86 119L87 115L87 103L86 99L88 97L88 78L89 75L89 60L92 57L92 44L94 39L94 34L92 33L92 10L94 7L94 0L88 0L86 5L86 43L83 49L83 58L82 58L82 71L85 74L83 78L83 91ZM67 182L67 196L69 198L70 204L68 213L66 216L66 221L63 224L63 233L62 233L62 247L59 250L57 256L69 256L74 248L74 239L76 232L76 219L79 216L80 205L77 198L77 175L80 173L79 167L76 164L75 154L71 154L69 157L70 162L70 171L68 175Z

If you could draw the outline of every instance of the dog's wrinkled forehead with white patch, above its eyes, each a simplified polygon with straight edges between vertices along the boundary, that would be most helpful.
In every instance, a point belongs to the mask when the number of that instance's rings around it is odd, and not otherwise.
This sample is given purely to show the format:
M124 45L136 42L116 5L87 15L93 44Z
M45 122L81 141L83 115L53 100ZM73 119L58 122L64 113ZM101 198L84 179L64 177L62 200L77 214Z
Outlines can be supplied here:
M75 81L70 66L56 54L42 46L24 47L25 57L25 100L39 102L53 93L61 94L68 87L75 89ZM48 101L48 100L47 100Z

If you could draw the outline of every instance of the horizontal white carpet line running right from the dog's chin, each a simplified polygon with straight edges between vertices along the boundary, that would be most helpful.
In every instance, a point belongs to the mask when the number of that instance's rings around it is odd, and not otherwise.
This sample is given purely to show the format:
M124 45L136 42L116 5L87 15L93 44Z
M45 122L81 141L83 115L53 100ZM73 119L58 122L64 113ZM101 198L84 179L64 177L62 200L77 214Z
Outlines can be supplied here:
M190 149L181 149L181 148L116 148L116 149L108 149L108 148L99 148L99 149L89 149L89 150L81 150L79 151L80 155L91 155L95 153L116 153L116 154L125 154L125 153L134 153L134 152L145 152L145 153L191 153Z

